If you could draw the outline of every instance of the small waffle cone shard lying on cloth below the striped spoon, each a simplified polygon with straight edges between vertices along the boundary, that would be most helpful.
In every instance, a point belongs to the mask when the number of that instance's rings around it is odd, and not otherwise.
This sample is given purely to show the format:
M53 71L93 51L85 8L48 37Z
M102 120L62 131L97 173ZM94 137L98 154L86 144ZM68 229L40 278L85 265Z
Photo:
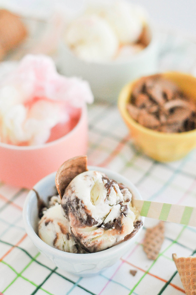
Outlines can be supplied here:
M165 223L160 221L156 226L148 228L143 242L143 250L148 259L155 260L164 241Z

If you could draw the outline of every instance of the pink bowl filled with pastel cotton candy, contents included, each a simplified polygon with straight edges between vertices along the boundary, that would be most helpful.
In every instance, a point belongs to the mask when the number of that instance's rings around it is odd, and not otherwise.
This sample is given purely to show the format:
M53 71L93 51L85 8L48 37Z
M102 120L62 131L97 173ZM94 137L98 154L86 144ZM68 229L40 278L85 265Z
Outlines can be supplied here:
M0 78L0 180L31 189L62 161L86 154L93 95L47 56L27 55L11 68Z

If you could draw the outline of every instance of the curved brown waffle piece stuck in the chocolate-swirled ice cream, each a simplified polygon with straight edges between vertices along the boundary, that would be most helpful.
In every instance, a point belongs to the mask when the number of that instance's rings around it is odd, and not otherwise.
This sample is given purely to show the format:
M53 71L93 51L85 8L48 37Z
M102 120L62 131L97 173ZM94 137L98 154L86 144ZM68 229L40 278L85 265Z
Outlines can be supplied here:
M58 169L55 176L57 191L62 199L68 184L78 174L87 171L87 157L78 156L65 161Z

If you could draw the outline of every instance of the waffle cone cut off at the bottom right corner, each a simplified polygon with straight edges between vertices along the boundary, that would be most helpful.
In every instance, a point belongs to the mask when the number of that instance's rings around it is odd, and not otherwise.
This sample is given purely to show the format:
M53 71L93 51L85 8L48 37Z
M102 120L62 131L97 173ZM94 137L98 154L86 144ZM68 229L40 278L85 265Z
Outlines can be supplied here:
M177 257L176 253L172 258L177 267L184 291L187 295L196 295L196 257Z

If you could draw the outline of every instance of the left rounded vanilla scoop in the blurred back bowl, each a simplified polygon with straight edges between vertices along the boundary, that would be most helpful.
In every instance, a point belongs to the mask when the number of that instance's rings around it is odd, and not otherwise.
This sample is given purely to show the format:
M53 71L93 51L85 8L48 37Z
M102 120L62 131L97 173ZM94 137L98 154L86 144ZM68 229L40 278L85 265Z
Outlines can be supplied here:
M87 61L111 60L119 45L110 25L94 14L71 22L66 30L65 42L76 56Z

